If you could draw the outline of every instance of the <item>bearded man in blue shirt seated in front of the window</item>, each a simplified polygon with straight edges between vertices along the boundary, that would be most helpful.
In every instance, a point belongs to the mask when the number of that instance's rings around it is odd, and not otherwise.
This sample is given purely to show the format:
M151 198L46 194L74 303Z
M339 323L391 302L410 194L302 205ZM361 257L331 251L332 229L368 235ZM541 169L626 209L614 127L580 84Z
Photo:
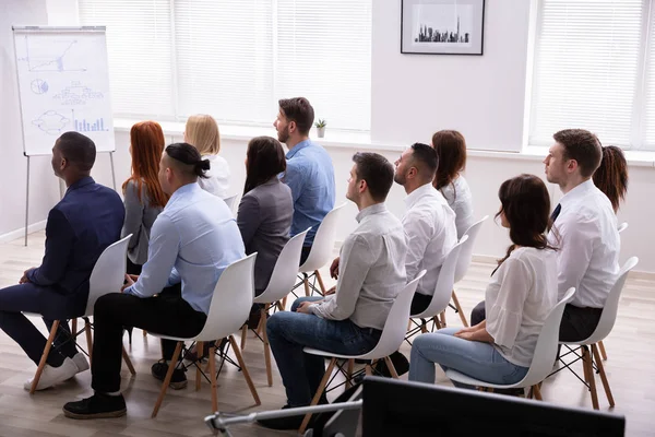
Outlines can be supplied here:
M325 149L309 139L314 113L307 98L283 98L278 104L279 113L273 126L277 139L289 149L282 180L294 197L291 236L311 226L302 247L302 264L321 222L334 208L334 167Z

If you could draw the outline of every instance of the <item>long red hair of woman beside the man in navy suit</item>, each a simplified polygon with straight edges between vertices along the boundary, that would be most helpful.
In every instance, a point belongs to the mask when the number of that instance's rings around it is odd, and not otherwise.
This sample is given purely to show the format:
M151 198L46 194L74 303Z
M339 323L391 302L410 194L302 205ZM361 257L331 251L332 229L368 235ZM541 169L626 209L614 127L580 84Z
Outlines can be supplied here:
M145 184L151 205L164 208L168 196L162 190L157 174L159 160L164 152L164 131L156 121L141 121L130 130L130 144L132 147L132 175L122 185L123 193L128 182L136 184L136 197L140 202L141 190Z

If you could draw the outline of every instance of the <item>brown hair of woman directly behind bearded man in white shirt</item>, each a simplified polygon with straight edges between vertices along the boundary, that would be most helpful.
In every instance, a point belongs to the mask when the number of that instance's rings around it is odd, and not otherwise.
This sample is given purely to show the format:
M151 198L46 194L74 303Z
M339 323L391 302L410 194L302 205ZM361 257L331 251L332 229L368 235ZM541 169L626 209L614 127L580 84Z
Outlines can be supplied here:
M432 147L439 156L439 168L432 185L440 190L452 184L466 167L466 140L456 130L440 130L432 135Z

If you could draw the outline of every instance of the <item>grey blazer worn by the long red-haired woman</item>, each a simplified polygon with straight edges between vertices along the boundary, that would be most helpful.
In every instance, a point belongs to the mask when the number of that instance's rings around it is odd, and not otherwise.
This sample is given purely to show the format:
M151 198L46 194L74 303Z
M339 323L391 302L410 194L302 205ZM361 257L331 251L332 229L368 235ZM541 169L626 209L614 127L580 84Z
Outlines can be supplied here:
M136 184L133 180L130 180L126 186L124 204L126 222L120 232L120 237L132 234L128 245L128 258L133 263L143 265L147 261L150 231L163 209L151 206L145 184L141 186L140 201L136 196Z

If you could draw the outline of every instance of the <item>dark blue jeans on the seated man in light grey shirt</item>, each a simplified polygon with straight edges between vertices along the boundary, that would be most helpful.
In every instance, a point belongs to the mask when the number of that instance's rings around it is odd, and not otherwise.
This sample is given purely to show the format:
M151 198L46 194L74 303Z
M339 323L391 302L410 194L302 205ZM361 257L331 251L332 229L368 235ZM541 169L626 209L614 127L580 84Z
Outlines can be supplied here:
M266 335L290 406L309 405L325 375L325 358L306 354L303 347L359 355L371 351L382 332L359 328L348 319L325 320L296 312L300 303L320 299L319 296L296 299L290 311L275 312L266 322Z

